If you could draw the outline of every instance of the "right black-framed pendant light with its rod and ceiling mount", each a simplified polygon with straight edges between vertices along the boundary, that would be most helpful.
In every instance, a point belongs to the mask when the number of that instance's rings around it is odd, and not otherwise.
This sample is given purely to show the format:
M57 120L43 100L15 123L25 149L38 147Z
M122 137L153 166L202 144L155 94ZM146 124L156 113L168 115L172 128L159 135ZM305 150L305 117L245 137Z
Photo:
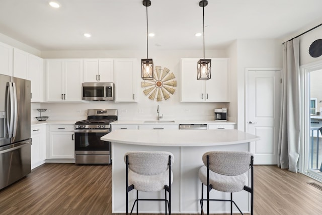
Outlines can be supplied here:
M207 0L199 2L202 7L203 17L203 59L198 60L197 65L197 80L209 80L211 78L211 59L205 59L205 12L204 9L208 5Z

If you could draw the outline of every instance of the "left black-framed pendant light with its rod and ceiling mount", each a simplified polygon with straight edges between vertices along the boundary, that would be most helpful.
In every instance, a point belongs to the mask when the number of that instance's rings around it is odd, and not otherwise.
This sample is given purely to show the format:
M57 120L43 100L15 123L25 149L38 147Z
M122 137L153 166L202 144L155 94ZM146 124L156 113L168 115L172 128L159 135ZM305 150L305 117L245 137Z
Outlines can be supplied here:
M143 0L146 7L146 59L141 59L141 78L143 80L153 80L153 60L148 57L148 30L147 30L147 7L151 6L150 0Z

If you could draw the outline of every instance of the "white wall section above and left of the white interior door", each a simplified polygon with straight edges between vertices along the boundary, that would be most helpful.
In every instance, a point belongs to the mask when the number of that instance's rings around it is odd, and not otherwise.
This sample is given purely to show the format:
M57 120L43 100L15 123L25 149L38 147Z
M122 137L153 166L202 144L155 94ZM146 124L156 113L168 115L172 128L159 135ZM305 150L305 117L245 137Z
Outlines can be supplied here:
M238 39L236 43L237 128L245 131L245 69L282 68L282 44L275 39Z

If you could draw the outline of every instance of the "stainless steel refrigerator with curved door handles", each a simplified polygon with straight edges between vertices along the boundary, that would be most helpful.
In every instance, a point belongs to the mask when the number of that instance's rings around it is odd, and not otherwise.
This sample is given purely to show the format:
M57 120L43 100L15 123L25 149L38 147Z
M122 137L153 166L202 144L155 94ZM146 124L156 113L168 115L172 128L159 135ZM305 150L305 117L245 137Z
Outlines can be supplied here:
M0 75L0 189L31 172L28 80Z

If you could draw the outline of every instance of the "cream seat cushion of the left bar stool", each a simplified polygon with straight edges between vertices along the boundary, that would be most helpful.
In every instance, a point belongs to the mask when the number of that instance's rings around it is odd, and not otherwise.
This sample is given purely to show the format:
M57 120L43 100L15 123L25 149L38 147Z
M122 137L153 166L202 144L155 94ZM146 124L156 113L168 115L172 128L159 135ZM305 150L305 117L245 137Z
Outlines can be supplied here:
M131 170L128 173L129 184L134 185L134 189L143 192L157 192L163 190L165 185L169 186L169 169L157 175L140 175ZM171 183L173 182L173 172L171 171Z

